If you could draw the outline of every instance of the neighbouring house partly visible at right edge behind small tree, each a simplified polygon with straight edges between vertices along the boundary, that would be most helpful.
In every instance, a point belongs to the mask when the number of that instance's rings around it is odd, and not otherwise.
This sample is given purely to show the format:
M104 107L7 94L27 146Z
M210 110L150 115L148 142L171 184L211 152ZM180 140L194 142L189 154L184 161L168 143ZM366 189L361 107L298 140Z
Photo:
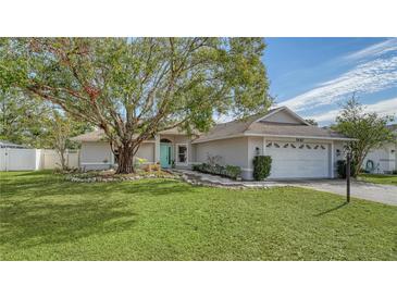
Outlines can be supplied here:
M397 124L387 126L395 135L395 142L383 145L371 150L364 161L362 169L375 174L390 174L397 171Z

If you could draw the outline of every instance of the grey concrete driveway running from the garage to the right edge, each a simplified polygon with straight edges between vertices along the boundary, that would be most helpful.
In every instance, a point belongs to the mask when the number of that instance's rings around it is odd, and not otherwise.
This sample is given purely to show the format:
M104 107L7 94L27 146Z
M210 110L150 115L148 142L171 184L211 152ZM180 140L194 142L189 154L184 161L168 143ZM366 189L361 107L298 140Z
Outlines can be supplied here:
M346 195L346 181L343 179L294 181L286 184ZM397 186L351 181L350 194L351 197L397 206Z

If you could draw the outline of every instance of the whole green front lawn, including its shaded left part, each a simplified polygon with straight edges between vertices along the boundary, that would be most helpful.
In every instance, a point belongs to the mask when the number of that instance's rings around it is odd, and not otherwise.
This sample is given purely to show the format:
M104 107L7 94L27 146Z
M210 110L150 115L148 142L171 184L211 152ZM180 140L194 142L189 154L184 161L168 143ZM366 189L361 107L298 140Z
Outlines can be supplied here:
M302 188L0 173L1 260L397 260L397 208Z

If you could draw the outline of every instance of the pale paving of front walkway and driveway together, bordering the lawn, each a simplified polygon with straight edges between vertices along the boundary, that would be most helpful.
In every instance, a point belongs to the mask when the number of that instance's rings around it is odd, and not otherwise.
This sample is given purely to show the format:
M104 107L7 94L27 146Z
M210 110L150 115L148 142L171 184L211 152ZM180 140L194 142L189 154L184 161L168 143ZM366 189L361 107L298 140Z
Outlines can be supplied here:
M204 174L190 170L173 170L191 184L232 187L232 188L269 188L282 186L295 186L327 191L332 194L346 195L346 181L343 179L307 179L307 181L233 181L218 175ZM351 197L397 206L397 186L381 185L364 182L351 182Z

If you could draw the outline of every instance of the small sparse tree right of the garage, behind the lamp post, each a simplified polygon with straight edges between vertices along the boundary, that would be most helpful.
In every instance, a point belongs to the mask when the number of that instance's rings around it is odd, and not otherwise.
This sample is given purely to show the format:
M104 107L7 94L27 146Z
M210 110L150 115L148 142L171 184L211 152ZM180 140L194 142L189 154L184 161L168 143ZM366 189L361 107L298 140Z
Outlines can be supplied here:
M394 121L392 115L382 116L374 112L365 112L364 107L355 97L343 105L333 128L357 139L348 145L348 149L352 153L352 161L357 165L355 176L358 175L370 150L395 141L392 131L386 127L387 123L392 121Z

